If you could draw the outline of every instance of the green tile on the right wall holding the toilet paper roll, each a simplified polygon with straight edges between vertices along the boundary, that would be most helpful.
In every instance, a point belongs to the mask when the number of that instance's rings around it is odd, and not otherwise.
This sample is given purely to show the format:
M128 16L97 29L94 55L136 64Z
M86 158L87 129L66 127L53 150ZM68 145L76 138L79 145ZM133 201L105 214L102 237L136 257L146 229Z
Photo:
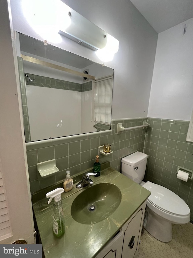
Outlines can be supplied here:
M148 118L144 153L148 155L145 180L179 195L190 207L193 220L193 183L176 177L177 166L193 170L193 144L186 142L189 121Z

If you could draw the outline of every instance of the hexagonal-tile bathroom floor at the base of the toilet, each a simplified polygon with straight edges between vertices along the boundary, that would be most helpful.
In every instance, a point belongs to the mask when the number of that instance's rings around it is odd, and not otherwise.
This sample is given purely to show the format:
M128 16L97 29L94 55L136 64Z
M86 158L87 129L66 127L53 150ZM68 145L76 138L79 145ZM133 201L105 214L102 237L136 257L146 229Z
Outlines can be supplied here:
M172 225L173 238L163 243L146 230L135 258L193 258L193 224Z

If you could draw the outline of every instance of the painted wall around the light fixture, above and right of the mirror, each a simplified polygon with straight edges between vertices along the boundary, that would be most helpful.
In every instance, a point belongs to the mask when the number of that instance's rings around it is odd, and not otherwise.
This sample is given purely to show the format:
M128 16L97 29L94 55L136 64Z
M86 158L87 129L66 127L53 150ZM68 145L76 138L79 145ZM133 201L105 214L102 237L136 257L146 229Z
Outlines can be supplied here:
M28 9L24 13L22 2L23 7ZM129 0L63 0L63 2L119 40L119 51L114 59L104 63L114 69L112 119L147 116L157 32ZM49 13L47 7L48 4L44 6L43 14ZM60 42L51 40L50 19L42 20L49 28L49 34L45 36L46 29L42 30L41 35L38 34L24 16L26 14L29 17L29 8L27 0L11 0L14 30L41 41L47 39L48 43L56 47L103 63L95 51L78 45L68 38L60 36Z

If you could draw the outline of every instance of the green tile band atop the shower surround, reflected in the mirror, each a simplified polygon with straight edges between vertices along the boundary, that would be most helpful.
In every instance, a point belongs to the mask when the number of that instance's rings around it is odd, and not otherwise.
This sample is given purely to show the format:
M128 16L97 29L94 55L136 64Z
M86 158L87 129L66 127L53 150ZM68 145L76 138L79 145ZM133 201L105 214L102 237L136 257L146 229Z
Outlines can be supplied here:
M33 82L26 82L27 85L34 85L39 87L47 87L61 90L73 90L79 92L92 90L92 81L80 84L59 79L53 79L45 76L39 76L31 73L25 74L27 74L30 77L30 79L34 79Z

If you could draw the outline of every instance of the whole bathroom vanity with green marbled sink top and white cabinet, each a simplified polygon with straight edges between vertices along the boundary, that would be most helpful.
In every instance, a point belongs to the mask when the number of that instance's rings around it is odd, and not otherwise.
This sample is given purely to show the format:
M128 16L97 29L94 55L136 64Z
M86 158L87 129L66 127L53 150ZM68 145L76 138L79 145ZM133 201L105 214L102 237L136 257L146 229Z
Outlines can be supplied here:
M109 162L101 168L100 177L90 177L93 186L77 189L80 175L73 178L73 189L62 194L65 234L60 238L52 232L53 204L47 204L46 193L61 187L62 182L32 194L46 258L133 258L136 254L150 191L112 169ZM88 213L84 208L92 198L101 205Z

